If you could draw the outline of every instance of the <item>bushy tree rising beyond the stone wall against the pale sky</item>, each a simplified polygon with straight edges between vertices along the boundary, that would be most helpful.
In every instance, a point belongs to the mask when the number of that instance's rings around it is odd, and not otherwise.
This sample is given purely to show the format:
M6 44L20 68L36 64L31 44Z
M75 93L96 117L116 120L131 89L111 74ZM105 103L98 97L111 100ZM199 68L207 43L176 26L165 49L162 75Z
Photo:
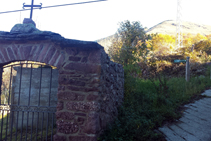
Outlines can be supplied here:
M111 59L123 66L145 59L148 53L145 39L144 28L139 22L121 22L109 48Z

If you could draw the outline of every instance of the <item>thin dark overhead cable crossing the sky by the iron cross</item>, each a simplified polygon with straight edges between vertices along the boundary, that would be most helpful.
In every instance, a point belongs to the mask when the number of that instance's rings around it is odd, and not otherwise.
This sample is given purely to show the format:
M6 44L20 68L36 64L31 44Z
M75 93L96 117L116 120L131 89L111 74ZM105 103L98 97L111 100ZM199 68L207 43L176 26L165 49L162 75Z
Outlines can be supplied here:
M79 3L70 3L70 4L62 4L62 5L52 5L52 6L45 6L43 8L53 8L53 7L60 7L60 6L68 6L68 5L77 5L77 4L86 4L86 3L94 3L94 2L101 2L101 1L107 1L107 0L97 0L97 1L87 1L87 2L79 2ZM40 9L40 8L33 8L33 9ZM12 12L20 12L20 11L26 11L31 9L22 9L22 10L14 10L14 11L5 11L0 12L0 14L6 14L6 13L12 13Z

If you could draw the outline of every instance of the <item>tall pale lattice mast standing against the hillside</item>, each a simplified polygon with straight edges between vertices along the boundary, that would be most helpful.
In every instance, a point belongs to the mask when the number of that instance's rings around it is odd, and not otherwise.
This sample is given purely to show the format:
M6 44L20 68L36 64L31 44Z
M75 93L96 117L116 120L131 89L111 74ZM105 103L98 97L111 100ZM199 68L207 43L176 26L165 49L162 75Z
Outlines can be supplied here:
M176 19L176 47L175 50L183 47L182 35L182 0L177 0L177 19Z

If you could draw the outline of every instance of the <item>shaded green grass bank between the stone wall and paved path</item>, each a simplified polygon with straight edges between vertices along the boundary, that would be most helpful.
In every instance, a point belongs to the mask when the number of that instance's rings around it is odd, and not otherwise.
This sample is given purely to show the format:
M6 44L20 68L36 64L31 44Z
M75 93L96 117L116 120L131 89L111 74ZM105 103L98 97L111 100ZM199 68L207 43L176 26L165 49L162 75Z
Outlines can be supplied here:
M125 76L125 99L119 115L99 138L101 141L163 141L155 132L166 121L181 117L180 107L210 88L209 77L165 78L150 81ZM160 85L163 83L163 85Z

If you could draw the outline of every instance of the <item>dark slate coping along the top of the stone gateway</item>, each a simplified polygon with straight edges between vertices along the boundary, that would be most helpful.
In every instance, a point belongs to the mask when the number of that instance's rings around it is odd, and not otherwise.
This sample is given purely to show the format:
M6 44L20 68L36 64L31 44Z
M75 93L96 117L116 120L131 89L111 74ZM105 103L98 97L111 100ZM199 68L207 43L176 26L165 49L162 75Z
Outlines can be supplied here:
M0 31L0 43L51 41L61 47L78 47L83 49L104 49L97 42L66 39L51 31L36 31L31 33Z

